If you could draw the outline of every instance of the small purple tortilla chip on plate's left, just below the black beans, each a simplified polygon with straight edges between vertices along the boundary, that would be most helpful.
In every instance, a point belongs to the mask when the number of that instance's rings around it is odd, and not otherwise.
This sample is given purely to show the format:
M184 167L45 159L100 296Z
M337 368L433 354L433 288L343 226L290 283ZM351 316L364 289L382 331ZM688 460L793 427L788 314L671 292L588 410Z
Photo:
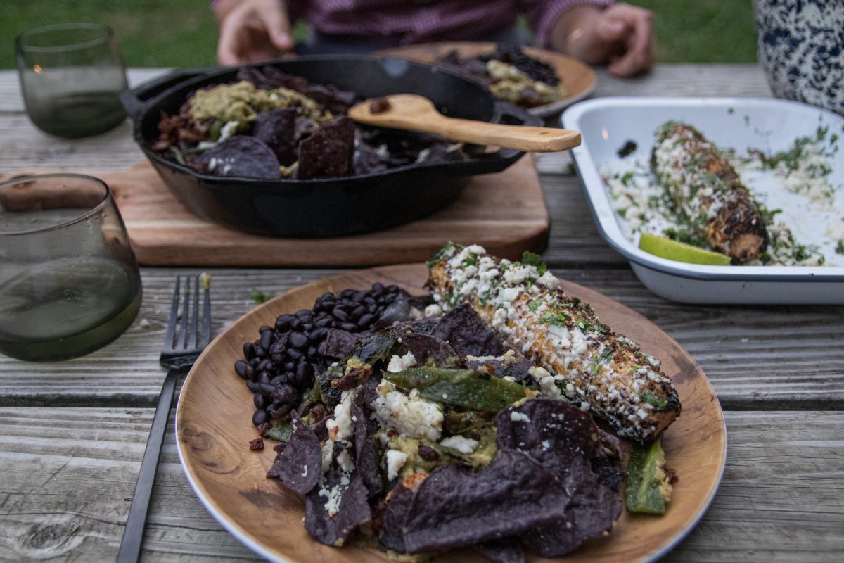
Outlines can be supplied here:
M317 486L322 473L322 447L317 434L295 410L290 411L290 421L294 426L290 441L275 457L267 475L281 479L288 489L307 495Z

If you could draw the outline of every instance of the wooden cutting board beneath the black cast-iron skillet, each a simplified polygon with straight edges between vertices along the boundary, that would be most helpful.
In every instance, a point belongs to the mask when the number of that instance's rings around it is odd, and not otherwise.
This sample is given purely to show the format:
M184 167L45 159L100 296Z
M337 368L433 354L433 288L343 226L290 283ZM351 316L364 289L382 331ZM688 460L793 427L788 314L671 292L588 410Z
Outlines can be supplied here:
M542 252L548 243L548 209L530 155L498 174L473 176L455 202L428 217L388 230L327 239L251 235L199 219L146 162L127 171L87 173L106 181L115 193L144 266L418 263L447 241L479 244L497 256L518 259L526 250Z

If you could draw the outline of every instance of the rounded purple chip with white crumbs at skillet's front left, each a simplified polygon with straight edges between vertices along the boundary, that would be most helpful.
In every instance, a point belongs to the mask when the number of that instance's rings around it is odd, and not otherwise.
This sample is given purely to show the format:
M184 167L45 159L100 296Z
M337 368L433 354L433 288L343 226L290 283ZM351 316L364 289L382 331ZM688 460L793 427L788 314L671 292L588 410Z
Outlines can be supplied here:
M279 159L262 140L235 135L206 150L189 163L192 168L213 176L242 176L277 180Z

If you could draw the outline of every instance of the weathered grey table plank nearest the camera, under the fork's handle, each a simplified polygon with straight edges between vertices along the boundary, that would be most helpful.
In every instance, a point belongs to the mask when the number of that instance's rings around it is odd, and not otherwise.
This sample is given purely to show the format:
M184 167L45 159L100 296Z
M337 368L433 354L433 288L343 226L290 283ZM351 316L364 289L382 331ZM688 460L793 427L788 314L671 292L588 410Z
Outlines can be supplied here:
M152 409L0 409L0 558L113 559L151 420ZM837 560L844 414L728 412L727 426L721 489L667 560ZM143 549L149 560L255 559L194 495L172 431Z

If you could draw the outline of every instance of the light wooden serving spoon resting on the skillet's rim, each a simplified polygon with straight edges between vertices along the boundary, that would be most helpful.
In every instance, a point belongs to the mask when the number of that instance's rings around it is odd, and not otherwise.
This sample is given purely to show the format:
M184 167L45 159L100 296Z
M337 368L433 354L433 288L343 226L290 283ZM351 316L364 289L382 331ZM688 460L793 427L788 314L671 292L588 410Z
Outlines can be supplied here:
M383 100L387 100L387 103ZM373 113L373 101L376 108L384 106L385 109ZM580 144L580 133L569 129L501 125L446 117L436 111L430 100L415 94L396 94L366 100L352 106L349 117L365 125L438 133L464 143L494 144L505 149L536 153L553 153Z

